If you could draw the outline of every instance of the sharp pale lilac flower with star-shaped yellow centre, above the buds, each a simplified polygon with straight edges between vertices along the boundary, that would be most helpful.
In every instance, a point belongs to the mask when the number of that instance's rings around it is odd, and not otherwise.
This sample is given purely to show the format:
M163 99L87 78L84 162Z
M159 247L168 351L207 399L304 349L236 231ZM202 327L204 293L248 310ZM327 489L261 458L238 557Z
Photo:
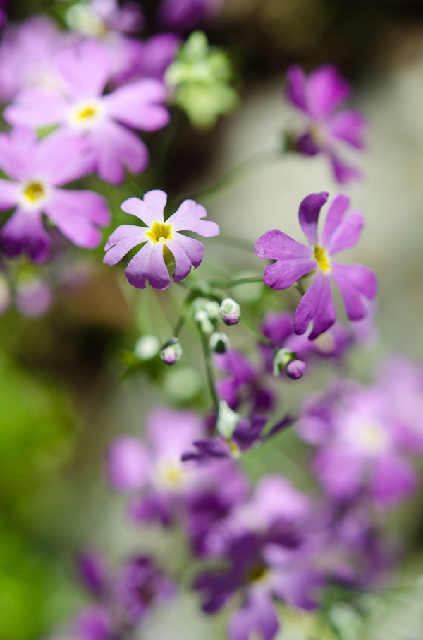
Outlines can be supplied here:
M163 211L167 196L164 191L148 191L144 199L129 198L122 203L125 213L136 215L147 225L121 225L109 237L104 249L104 263L116 264L125 254L136 247L144 246L128 264L126 277L131 285L145 289L145 281L155 289L166 289L171 278L166 268L165 256L174 263L173 280L179 282L186 278L191 267L200 265L204 247L198 240L180 233L193 231L204 237L219 235L216 223L202 220L207 211L193 200L185 200L176 213L164 221Z

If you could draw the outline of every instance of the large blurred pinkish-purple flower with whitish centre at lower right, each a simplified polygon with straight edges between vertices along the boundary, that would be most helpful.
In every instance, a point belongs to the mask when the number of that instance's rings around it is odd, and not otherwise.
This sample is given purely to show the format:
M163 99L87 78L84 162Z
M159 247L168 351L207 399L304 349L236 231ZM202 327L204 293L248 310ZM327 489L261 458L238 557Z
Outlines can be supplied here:
M298 432L318 446L314 472L332 497L351 499L365 491L390 506L416 488L386 390L340 382L305 403Z

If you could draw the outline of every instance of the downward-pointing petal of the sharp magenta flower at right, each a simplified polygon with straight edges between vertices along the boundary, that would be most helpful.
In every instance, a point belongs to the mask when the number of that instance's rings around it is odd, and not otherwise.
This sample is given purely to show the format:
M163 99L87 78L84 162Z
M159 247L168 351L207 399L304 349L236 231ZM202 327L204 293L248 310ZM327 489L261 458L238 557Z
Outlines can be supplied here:
M312 286L302 296L294 316L295 333L305 333L309 323L313 321L313 328L309 340L314 340L321 333L327 331L336 321L336 309L331 292L331 279L320 269Z

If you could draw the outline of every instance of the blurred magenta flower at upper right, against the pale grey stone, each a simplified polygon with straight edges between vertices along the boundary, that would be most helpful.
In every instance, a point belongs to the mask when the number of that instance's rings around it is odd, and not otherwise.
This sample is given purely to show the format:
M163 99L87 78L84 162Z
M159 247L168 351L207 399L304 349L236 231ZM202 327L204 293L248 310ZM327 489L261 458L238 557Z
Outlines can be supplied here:
M350 85L341 78L330 64L319 67L306 78L298 65L287 71L288 98L309 121L308 129L296 141L300 153L323 153L331 162L336 181L349 182L361 177L361 173L338 157L338 146L364 148L364 116L355 109L336 111L350 95Z

